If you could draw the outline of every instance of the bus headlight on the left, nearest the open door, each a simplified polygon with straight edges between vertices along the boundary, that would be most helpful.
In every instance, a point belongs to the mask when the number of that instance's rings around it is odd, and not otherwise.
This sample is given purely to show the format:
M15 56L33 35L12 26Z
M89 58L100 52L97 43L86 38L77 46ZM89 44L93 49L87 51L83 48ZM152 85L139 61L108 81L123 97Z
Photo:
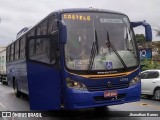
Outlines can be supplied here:
M84 84L79 83L77 81L73 81L70 78L66 79L66 84L67 84L67 87L69 88L73 88L77 90L87 90L87 87Z

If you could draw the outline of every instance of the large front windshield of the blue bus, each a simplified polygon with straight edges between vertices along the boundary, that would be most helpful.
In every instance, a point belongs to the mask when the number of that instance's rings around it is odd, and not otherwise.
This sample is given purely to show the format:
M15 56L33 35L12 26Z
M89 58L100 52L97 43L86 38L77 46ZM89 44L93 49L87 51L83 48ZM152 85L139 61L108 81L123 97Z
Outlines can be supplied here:
M85 12L65 13L62 19L67 27L65 61L68 69L87 70L91 57L91 70L138 65L133 31L127 16Z

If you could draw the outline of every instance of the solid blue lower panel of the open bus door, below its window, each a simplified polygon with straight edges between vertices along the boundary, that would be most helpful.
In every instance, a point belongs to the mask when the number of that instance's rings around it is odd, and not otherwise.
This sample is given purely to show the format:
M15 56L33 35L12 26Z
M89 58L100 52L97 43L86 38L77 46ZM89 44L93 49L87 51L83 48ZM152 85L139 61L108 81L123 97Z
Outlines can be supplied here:
M54 66L29 61L28 88L31 110L58 110L61 106L60 71Z

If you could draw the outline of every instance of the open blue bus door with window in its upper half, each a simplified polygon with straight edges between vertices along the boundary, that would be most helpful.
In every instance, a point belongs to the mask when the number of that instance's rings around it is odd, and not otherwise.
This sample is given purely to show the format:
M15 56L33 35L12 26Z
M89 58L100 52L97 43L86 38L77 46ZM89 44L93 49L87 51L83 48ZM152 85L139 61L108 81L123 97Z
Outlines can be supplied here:
M31 110L58 110L61 106L61 79L54 39L36 36L27 39L27 76Z

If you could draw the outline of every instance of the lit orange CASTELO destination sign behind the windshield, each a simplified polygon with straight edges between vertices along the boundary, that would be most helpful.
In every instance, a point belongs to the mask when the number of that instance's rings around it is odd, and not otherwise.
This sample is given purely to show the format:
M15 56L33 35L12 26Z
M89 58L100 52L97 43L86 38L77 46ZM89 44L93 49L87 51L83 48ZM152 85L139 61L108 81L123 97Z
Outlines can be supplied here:
M63 18L67 20L79 20L79 21L91 20L91 17L89 15L80 15L80 14L64 14Z

